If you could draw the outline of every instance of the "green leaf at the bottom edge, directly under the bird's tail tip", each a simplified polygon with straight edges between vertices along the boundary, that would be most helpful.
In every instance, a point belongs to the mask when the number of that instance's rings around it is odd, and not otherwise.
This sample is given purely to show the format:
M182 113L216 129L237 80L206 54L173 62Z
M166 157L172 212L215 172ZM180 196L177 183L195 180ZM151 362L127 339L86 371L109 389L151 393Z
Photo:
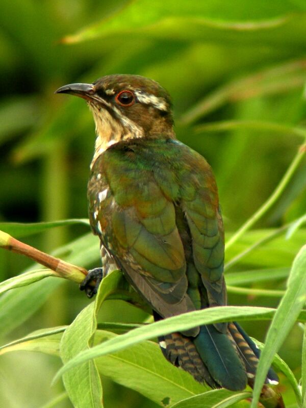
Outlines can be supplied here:
M250 398L250 392L233 392L228 390L213 390L180 401L171 408L226 408L245 398ZM235 405L236 406L236 405Z

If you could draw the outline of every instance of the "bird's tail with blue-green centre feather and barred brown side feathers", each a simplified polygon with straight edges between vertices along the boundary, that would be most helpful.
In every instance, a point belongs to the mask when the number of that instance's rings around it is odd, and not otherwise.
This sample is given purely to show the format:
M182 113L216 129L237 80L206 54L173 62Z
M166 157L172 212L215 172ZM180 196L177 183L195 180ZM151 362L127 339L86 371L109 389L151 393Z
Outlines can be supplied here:
M156 312L154 317L161 319ZM236 322L228 323L226 334L209 324L200 326L196 337L171 333L158 340L170 363L211 388L239 391L247 383L253 386L260 350ZM270 368L266 383L274 385L277 382L278 377Z

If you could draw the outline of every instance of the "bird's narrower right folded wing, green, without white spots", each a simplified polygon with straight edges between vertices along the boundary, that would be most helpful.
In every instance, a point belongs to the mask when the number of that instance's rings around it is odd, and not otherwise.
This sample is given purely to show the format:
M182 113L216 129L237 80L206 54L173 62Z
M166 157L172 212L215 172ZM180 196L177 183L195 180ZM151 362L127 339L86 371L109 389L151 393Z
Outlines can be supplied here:
M192 172L189 184L192 194L182 194L182 207L188 222L192 241L194 266L200 273L210 306L226 304L223 276L224 233L217 186L208 163L196 152L188 152Z

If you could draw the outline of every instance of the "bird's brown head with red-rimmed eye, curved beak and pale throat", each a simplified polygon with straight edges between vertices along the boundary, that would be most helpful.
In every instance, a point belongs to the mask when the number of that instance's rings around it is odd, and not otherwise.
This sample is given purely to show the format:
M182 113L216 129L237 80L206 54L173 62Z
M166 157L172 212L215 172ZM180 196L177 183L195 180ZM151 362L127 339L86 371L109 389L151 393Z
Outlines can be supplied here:
M65 85L56 93L86 99L96 125L95 156L121 140L174 137L169 94L140 75L107 75L93 84Z

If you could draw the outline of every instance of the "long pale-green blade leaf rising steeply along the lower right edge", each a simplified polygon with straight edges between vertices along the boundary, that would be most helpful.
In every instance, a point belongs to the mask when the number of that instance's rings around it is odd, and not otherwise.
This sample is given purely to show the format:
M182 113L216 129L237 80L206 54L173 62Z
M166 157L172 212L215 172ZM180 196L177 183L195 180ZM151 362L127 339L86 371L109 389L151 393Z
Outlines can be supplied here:
M254 384L252 408L255 408L274 354L283 344L306 300L306 246L297 254L288 279L288 289L269 327Z

